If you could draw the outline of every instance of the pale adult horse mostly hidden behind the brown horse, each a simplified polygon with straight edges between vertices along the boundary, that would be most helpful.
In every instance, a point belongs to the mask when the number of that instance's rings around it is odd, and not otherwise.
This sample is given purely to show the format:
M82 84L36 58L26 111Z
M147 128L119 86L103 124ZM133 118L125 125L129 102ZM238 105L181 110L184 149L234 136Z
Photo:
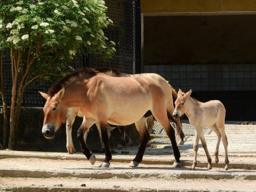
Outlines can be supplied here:
M163 77L161 77L158 74L155 73L142 73L142 74L125 74L125 73L120 73L117 69L111 69L111 68L98 68L96 69L97 71L104 73L106 75L110 75L112 77L148 77L152 80L154 80L155 82L157 82L163 89L164 93L167 96L167 102L166 102L166 108L167 111L170 114L173 114L174 112L174 100L177 98L177 92L175 91L175 89L170 86L170 84L168 83L168 81L166 81ZM72 142L72 136L71 136L71 131L72 131L72 124L75 121L75 117L76 116L80 116L82 117L82 114L79 112L78 108L70 108L67 110L67 123L66 123L66 130L67 130L67 150L69 154L75 153L75 148ZM154 127L154 118L151 115L150 117L147 118L146 120L147 123L147 132L148 134L151 134L152 129ZM177 133L179 136L179 141L178 141L178 145L183 145L184 144L184 133L182 131L182 125L181 125L181 120L180 118L177 118L176 121L174 121L174 123L177 126ZM101 133L100 133L100 128L99 128L99 124L96 123L96 126L99 130L99 134L100 134L100 140L101 140ZM84 140L86 140L86 137L88 135L89 130L87 130L84 133ZM123 146L125 146L125 143L128 142L130 145L132 145L132 140L129 139L125 133L124 133L124 127L122 127L122 130L120 130L121 133L121 143L118 145L118 148L122 148ZM109 131L109 135L110 135L110 131ZM126 141L126 142L125 142ZM102 146L102 150L104 148L103 142L101 140L101 146Z

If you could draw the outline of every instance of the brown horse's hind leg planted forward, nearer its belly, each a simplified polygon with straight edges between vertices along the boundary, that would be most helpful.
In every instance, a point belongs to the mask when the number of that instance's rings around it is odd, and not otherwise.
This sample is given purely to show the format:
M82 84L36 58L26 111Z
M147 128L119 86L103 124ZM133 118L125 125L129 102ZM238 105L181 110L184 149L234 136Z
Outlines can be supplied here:
M143 155L146 150L147 142L150 139L150 134L148 134L148 132L146 130L145 123L146 123L146 119L144 117L142 117L139 121L135 122L136 128L140 134L140 146L139 146L139 150L138 150L136 157L129 164L129 166L131 166L131 167L138 166L139 163L142 161Z

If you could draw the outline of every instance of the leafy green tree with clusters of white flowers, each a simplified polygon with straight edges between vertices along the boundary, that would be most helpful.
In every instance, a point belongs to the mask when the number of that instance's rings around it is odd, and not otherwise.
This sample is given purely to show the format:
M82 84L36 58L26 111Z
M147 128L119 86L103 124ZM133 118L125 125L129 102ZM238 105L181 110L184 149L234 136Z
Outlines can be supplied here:
M15 150L25 87L36 78L67 72L76 54L115 53L102 29L113 22L100 0L0 0L0 94L4 109L4 147ZM3 55L10 50L12 98L7 111ZM18 86L19 85L19 86ZM8 138L8 132L10 136Z

